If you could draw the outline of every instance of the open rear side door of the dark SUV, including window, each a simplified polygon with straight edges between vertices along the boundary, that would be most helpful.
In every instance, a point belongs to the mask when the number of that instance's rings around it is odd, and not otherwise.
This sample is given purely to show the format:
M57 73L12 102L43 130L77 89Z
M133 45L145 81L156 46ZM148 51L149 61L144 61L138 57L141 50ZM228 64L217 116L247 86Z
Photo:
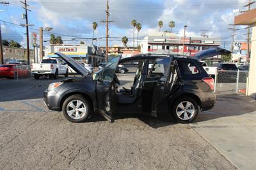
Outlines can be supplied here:
M157 105L164 98L164 92L168 77L170 75L170 66L172 58L157 58L147 79L143 83L143 112L148 112L151 116L157 116ZM149 107L151 105L151 107Z

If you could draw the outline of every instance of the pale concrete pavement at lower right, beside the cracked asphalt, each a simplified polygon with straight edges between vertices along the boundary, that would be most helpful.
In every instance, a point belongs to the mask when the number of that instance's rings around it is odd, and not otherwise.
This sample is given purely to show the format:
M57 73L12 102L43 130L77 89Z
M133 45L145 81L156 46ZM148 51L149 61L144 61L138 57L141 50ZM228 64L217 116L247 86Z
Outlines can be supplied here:
M256 100L218 95L214 109L190 125L239 169L256 169Z

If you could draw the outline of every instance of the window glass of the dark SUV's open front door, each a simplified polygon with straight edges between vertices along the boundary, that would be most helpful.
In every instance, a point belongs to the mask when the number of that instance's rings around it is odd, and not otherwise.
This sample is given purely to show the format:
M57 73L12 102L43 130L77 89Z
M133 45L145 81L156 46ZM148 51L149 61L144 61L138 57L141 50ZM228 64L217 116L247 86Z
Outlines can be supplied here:
M120 57L112 58L106 66L104 66L104 70L102 71L101 80L106 82L113 81L116 72L116 66L118 65Z

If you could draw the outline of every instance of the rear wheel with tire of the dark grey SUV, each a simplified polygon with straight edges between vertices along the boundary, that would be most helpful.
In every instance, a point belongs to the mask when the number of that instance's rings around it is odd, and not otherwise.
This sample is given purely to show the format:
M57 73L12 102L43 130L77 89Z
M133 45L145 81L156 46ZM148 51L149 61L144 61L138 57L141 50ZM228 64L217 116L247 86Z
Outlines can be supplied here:
M171 109L171 114L178 123L191 123L196 119L198 112L198 104L192 97L179 98Z

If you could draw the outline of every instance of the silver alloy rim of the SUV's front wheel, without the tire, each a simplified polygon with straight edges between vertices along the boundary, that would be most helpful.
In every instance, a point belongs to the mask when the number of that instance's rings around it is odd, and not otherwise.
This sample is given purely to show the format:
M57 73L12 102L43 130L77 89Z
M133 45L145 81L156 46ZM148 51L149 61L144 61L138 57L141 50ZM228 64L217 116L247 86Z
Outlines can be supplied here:
M67 105L67 114L74 120L79 120L86 115L86 105L81 100L72 100Z

